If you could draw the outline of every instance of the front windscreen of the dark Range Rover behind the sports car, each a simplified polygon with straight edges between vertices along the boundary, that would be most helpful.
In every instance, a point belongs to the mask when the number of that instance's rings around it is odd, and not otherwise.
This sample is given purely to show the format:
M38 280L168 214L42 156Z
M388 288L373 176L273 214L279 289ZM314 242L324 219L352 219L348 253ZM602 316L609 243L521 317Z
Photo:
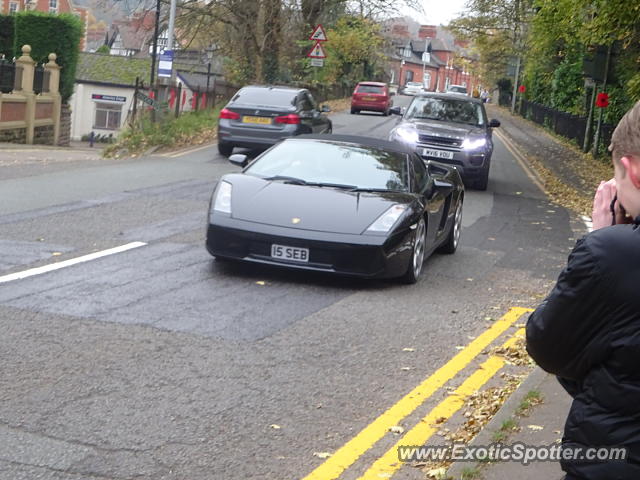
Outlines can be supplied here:
M485 124L482 104L468 100L416 97L405 114L407 120L440 120L481 126Z

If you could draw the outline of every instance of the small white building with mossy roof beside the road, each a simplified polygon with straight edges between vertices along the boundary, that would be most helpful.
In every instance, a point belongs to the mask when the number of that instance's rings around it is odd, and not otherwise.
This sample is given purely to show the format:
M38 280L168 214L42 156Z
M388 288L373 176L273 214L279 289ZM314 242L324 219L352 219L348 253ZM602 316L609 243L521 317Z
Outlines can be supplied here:
M118 135L133 107L136 77L148 85L150 58L80 53L71 106L71 138Z

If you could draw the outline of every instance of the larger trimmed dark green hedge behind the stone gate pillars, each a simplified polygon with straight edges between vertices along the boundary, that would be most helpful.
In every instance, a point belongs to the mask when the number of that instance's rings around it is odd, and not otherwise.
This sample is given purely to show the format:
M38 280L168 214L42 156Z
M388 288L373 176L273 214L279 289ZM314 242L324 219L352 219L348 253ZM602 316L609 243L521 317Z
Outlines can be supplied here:
M20 55L22 45L31 45L31 57L38 63L46 63L49 54L55 53L56 61L62 67L60 94L63 102L73 94L83 33L80 19L69 13L20 12L15 15L16 56Z

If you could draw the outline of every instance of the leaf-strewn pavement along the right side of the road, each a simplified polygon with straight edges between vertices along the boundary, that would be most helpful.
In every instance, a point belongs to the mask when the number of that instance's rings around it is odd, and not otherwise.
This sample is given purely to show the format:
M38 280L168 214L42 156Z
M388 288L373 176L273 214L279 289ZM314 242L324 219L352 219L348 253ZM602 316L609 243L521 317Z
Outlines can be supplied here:
M580 162L582 154L568 147L540 126L520 116L512 115L507 109L495 105L487 107L489 118L500 120L498 135L507 137L506 142L520 153L525 162L529 155L534 155L542 161L545 167L557 172L563 178L572 178L571 172L563 170L561 165ZM527 152L527 153L524 153ZM566 162L563 162L565 161ZM534 171L530 173L540 182ZM541 183L541 182L540 182ZM584 187L584 185L575 185ZM542 187L544 188L544 187ZM585 226L585 232L586 232ZM531 392L537 392L542 403L533 407L525 416L517 415L517 410L523 400ZM495 443L493 439L496 431L500 430L503 422L513 419L517 424L517 431L510 434L502 443L513 445L521 442L526 445L554 445L562 439L565 419L571 406L571 397L560 386L556 377L536 367L531 375L512 394L493 419L471 442L471 445L489 445ZM477 469L477 470L476 470ZM471 463L457 462L448 470L448 478L471 478L470 472L475 472L473 478L486 480L538 480L540 478L560 480L563 472L560 464L554 461L537 461L530 465L519 462Z

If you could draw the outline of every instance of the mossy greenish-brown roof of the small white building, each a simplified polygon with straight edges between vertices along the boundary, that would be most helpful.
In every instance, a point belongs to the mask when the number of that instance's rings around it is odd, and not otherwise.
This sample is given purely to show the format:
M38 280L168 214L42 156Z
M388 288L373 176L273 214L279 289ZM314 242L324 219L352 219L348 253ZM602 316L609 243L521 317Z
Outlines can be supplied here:
M136 77L149 83L150 58L80 52L76 82L101 83L133 87Z

